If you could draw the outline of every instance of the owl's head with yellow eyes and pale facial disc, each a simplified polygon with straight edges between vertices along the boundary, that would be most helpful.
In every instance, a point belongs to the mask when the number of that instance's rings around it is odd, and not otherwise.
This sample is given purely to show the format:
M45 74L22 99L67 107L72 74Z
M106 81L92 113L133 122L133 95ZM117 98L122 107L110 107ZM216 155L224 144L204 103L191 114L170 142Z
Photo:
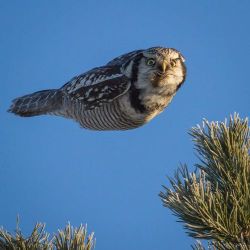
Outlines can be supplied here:
M154 86L180 85L186 76L184 57L175 49L153 47L141 52L138 73Z

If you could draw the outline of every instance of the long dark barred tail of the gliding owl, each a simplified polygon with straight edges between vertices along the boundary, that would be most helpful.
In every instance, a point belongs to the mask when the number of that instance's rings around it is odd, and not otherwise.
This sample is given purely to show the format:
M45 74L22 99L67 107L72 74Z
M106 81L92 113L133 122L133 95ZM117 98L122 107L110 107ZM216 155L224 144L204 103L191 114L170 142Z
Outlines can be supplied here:
M38 91L14 99L8 111L25 117L57 113L62 108L62 97L58 89Z

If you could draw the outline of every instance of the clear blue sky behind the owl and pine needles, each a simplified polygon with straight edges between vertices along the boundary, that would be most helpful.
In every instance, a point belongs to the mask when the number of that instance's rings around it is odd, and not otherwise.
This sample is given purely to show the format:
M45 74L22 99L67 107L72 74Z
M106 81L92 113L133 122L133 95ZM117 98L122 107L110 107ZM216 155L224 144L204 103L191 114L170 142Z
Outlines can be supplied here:
M25 233L88 223L97 250L190 249L158 193L180 162L196 162L187 131L202 118L249 115L250 2L0 2L0 224ZM144 127L93 132L71 120L20 118L13 98L56 88L122 53L174 47L187 80Z

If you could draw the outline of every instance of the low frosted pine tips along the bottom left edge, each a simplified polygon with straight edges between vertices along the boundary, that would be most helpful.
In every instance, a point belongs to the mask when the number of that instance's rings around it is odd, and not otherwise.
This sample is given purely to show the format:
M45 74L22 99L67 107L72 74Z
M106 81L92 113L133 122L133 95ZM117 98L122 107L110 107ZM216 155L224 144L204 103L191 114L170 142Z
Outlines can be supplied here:
M94 243L94 234L87 236L86 227L73 228L69 223L52 238L42 223L37 223L27 238L22 235L18 223L15 235L0 229L0 250L93 250Z

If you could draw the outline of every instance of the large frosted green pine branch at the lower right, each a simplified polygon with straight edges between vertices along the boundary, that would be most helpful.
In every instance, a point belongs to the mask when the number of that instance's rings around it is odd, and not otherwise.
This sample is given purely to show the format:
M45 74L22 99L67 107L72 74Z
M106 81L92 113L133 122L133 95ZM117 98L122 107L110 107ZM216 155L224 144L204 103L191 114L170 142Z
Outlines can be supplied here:
M204 120L191 129L200 163L168 178L160 193L189 236L209 240L208 249L250 249L250 138L248 120ZM193 249L205 249L197 242Z

